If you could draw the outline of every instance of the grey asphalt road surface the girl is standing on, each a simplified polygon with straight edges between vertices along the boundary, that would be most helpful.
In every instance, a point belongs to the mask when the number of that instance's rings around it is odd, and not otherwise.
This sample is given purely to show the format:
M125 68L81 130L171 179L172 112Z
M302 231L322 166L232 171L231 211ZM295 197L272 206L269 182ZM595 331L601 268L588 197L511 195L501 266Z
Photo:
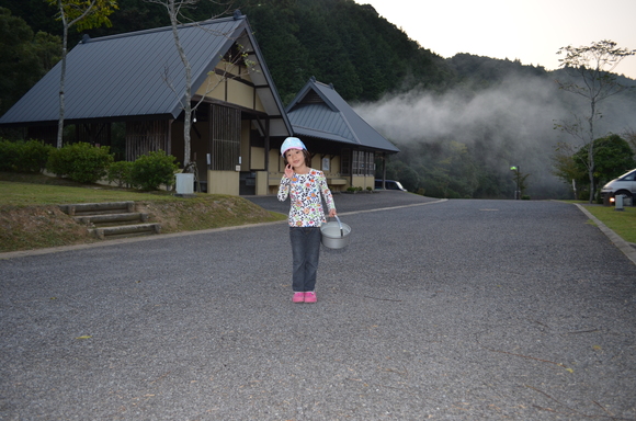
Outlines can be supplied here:
M285 223L0 260L0 420L636 420L636 266L576 206L336 204L314 305Z

